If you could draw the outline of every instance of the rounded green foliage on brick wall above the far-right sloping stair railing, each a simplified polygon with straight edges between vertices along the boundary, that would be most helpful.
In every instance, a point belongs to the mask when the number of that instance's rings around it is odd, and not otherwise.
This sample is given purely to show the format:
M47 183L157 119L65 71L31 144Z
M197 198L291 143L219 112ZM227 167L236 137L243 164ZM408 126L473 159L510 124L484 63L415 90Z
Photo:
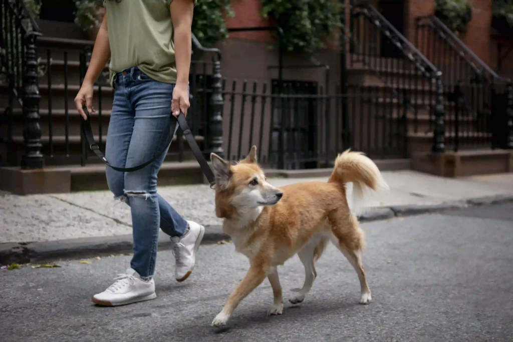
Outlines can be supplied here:
M436 0L435 3L435 15L455 32L467 32L472 10L469 0Z

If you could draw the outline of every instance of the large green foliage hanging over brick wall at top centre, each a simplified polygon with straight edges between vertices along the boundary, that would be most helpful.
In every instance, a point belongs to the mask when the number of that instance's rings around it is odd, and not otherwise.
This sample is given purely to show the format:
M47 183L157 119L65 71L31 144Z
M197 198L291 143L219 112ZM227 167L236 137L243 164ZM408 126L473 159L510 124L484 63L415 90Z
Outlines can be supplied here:
M339 0L261 0L262 15L283 29L287 51L313 52L325 47L341 27Z

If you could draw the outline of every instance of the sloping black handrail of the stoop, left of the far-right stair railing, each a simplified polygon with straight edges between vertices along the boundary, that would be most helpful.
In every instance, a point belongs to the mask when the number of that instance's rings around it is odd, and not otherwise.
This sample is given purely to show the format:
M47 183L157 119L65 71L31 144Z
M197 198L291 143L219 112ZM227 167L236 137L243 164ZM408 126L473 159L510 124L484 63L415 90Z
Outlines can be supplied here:
M429 60L419 51L413 44L411 44L406 37L404 37L387 19L372 5L368 3L359 3L353 6L353 13L357 13L356 11L359 8L363 8L361 12L367 16L367 18L373 22L373 24L383 32L385 36L393 40L390 31L393 35L398 39L398 42L394 42L394 44L399 45L401 50L404 52L405 56L411 61L414 62L416 67L424 73L427 77L436 78L442 75L442 73L433 65ZM406 47L411 52L406 53ZM415 56L414 56L415 54ZM421 63L420 63L421 62ZM423 64L423 65L422 65ZM429 71L428 71L429 70Z

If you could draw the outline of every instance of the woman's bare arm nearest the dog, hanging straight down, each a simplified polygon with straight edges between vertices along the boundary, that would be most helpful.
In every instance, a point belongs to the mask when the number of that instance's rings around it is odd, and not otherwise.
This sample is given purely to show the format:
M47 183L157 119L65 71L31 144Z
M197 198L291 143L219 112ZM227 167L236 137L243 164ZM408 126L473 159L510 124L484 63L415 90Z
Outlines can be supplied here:
M173 115L189 108L189 68L191 63L191 25L193 0L172 0L169 5L174 32L174 54L176 61L176 85L173 90L171 109Z

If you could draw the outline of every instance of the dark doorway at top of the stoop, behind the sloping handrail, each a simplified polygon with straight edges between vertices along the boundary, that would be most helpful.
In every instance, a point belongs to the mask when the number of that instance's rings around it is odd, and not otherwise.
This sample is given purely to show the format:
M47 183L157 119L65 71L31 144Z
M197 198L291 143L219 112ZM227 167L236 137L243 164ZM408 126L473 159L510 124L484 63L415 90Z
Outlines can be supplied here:
M404 0L378 0L378 10L399 33L404 35L404 14L406 10ZM381 56L389 58L401 58L403 56L397 46L391 44L383 34L381 35Z

